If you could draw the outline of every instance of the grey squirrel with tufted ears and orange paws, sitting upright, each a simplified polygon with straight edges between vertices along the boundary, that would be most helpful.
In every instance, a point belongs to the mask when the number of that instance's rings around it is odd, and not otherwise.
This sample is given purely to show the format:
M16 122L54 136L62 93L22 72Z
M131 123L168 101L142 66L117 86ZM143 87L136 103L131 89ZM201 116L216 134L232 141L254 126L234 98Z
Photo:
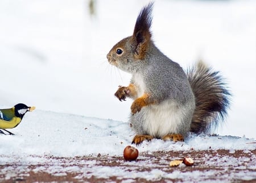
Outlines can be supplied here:
M189 131L208 132L225 119L231 96L220 73L203 61L185 72L156 47L152 7L151 2L142 8L133 35L107 55L111 65L132 74L129 86L119 86L114 95L134 100L129 122L137 145L153 138L184 141Z

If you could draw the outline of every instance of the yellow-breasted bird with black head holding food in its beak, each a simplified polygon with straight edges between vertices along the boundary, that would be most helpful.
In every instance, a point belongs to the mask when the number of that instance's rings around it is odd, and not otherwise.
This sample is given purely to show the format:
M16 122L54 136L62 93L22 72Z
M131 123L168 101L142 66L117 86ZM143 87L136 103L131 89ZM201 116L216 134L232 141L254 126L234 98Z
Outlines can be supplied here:
M10 109L0 109L0 133L5 134L2 130L9 132L10 135L14 135L12 132L7 131L6 128L15 128L22 121L22 118L27 111L33 111L35 107L28 107L23 103L18 103Z

